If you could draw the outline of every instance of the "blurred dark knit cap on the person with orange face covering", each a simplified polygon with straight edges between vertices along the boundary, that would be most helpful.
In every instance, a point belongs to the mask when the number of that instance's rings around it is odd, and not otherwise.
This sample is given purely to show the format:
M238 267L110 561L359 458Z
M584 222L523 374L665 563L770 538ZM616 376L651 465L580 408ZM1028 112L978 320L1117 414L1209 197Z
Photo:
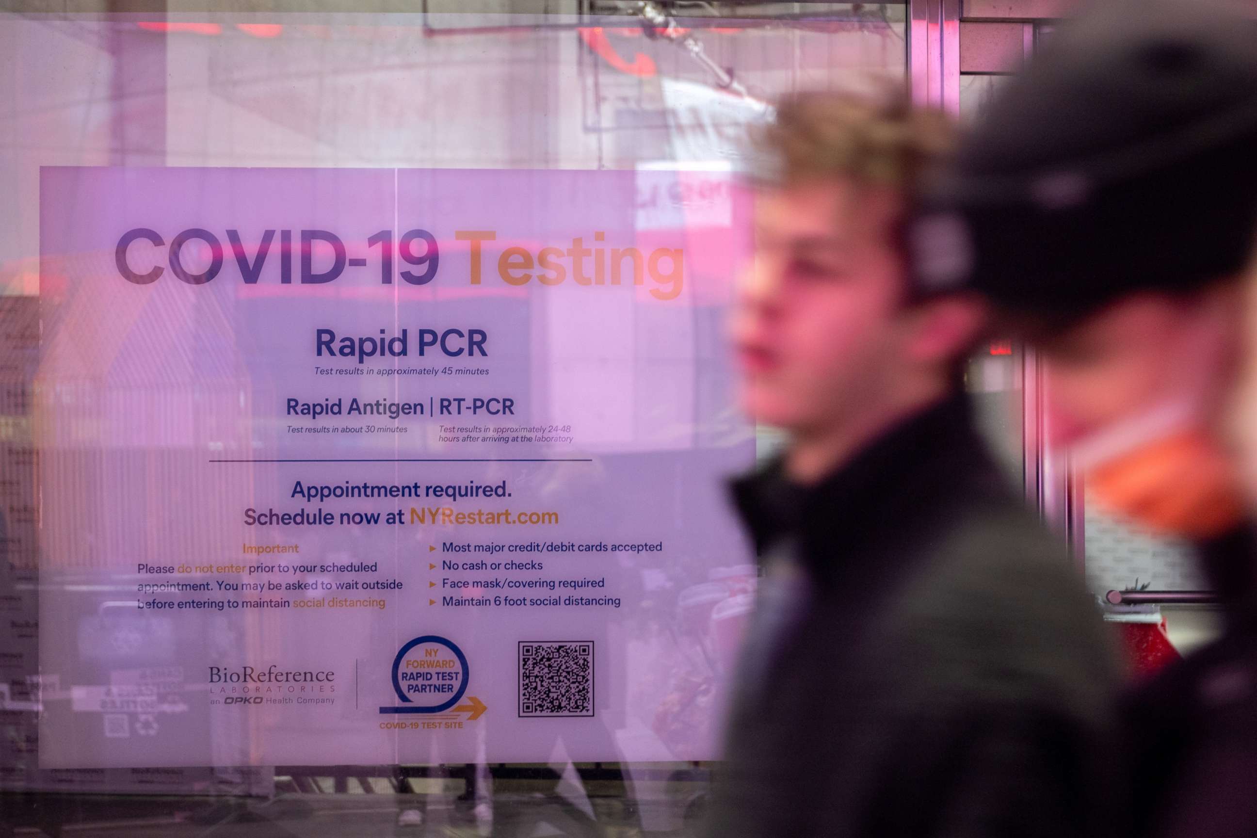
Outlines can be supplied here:
M1234 276L1257 240L1257 21L1096 4L1008 83L906 234L923 294L1057 320Z

